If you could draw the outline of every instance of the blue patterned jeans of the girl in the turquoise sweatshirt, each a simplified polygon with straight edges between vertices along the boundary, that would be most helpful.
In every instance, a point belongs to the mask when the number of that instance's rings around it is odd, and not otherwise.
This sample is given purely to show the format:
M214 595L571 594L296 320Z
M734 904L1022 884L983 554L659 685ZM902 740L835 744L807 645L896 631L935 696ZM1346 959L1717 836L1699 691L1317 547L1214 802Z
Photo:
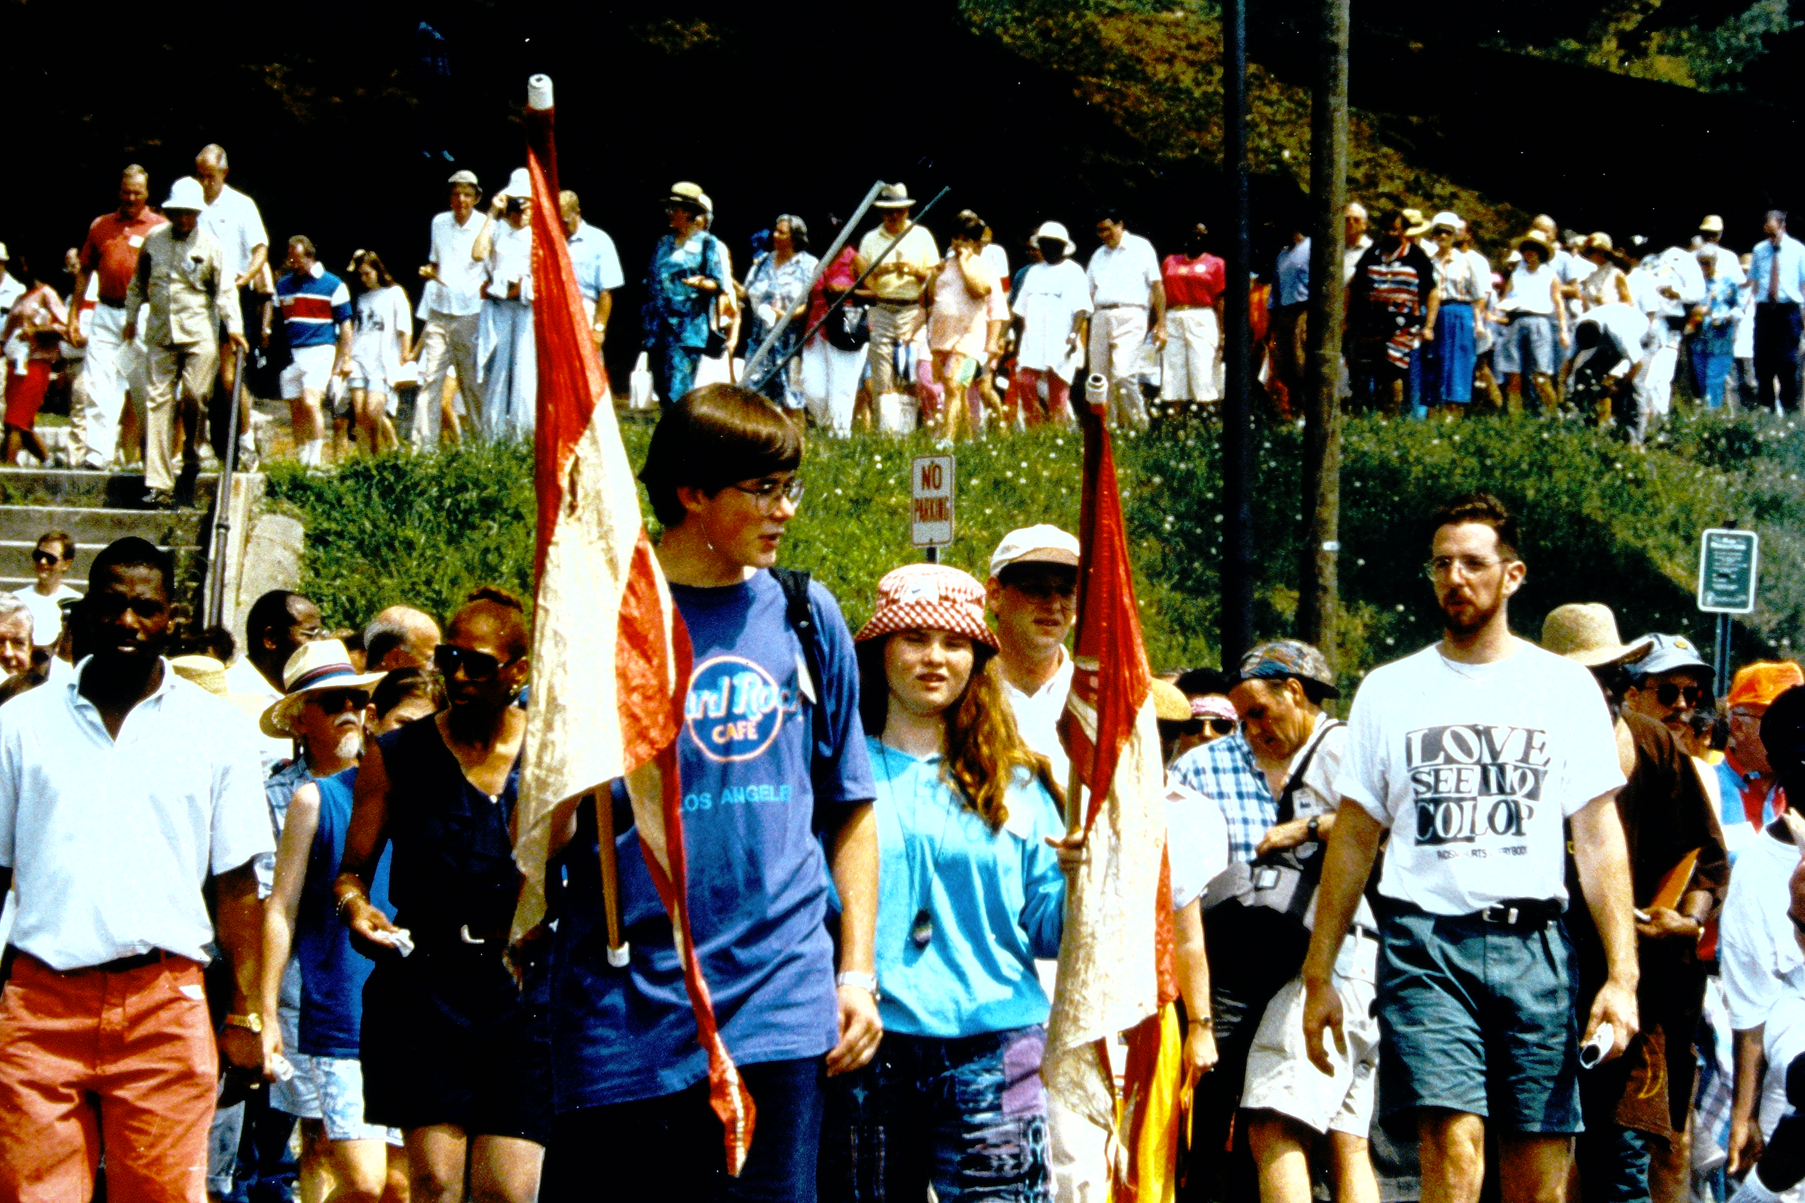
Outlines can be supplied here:
M872 1064L828 1086L825 1203L1047 1203L1041 1026L951 1041L884 1035Z

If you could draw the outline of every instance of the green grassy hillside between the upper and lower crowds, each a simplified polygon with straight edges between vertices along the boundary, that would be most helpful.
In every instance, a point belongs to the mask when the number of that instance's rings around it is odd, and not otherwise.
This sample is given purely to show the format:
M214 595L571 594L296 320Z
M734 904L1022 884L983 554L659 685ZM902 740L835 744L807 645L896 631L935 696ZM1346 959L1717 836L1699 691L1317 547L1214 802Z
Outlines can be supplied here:
M628 426L626 438L637 462L646 427ZM1291 633L1296 611L1300 444L1292 426L1256 431L1262 635ZM1213 429L1173 426L1117 447L1148 655L1157 667L1215 664L1222 536ZM809 445L809 492L783 563L809 568L834 590L854 628L870 615L877 577L919 557L908 546L908 462L931 449L926 436ZM1529 583L1513 619L1531 638L1554 606L1603 601L1624 635L1659 629L1709 642L1711 620L1691 602L1699 532L1735 518L1763 539L1760 606L1738 626L1738 651L1805 646L1801 473L1805 431L1791 422L1680 417L1643 453L1594 431L1525 418L1350 422L1338 669L1354 680L1435 638L1421 518L1453 492L1480 487L1522 514ZM957 541L946 559L980 577L1009 528L1078 525L1079 445L1070 433L962 444L957 482ZM303 588L334 624L361 624L403 601L444 613L489 581L529 592L532 489L523 447L357 460L327 476L278 464L269 496L307 523Z

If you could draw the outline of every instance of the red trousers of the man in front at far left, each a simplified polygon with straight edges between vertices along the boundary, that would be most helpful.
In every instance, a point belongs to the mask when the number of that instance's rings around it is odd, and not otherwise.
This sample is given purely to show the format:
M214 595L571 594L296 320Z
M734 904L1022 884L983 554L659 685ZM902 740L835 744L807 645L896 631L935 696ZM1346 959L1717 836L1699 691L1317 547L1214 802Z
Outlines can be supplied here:
M0 994L0 1199L204 1203L218 1048L200 965L60 974L20 954Z

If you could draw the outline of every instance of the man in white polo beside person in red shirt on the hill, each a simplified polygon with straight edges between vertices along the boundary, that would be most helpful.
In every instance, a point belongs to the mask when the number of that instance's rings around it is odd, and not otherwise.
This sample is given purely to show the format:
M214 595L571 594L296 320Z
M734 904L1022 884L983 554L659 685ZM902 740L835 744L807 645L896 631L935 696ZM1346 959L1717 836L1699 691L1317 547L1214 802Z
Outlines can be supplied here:
M1146 429L1146 402L1135 370L1152 312L1153 346L1166 350L1166 289L1153 243L1123 229L1115 209L1097 215L1090 256L1090 372L1110 382L1110 424Z

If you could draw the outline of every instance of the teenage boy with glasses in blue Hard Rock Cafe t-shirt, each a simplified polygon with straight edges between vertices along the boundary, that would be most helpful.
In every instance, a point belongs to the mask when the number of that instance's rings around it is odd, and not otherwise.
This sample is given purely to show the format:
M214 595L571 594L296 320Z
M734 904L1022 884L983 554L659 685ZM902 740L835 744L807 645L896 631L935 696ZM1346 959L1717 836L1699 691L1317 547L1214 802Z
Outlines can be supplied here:
M866 1064L883 1033L875 788L852 635L819 584L807 586L812 629L798 629L771 572L801 498L801 455L776 404L709 384L666 409L639 474L693 649L677 734L690 922L758 1107L751 1152L727 1178L670 916L616 788L625 969L608 965L594 808L565 826L549 1199L590 1198L597 1165L630 1163L659 1165L673 1199L812 1199L823 1080Z

